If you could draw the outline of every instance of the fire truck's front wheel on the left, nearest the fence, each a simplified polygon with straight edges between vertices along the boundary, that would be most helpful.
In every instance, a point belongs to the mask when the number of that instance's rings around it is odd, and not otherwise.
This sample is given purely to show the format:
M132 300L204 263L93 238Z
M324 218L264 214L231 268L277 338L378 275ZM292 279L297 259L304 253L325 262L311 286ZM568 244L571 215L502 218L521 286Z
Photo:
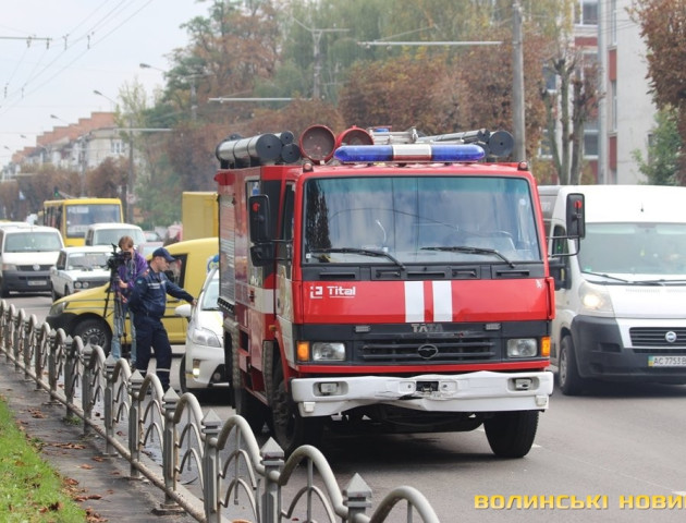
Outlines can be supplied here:
M271 405L273 433L285 454L290 455L302 445L319 445L323 431L323 419L301 416L297 405L291 398L291 392L286 390L281 362L277 362L273 382L274 396Z

